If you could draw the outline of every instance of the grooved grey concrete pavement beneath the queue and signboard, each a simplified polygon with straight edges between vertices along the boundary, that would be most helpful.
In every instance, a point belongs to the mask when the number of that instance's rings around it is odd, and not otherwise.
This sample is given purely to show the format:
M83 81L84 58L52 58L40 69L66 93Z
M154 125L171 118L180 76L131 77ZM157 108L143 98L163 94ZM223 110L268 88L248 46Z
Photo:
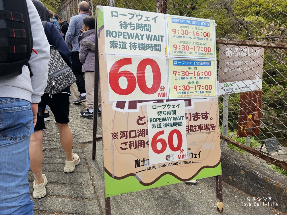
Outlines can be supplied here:
M75 87L75 85L73 85ZM72 95L71 100L76 96ZM73 134L74 152L80 164L73 173L64 173L65 154L61 148L59 131L54 122L46 122L43 142L43 173L48 184L47 195L34 199L35 214L105 214L102 141L97 141L96 160L92 160L93 120L84 119L79 112L82 105L70 105L70 128ZM98 134L101 134L101 118L98 118ZM29 171L32 195L32 172ZM250 197L226 183L222 183L224 214L271 215L285 214L270 207L254 206ZM215 178L197 180L196 185L179 183L127 193L110 198L113 215L172 215L218 214L216 210ZM251 206L249 206L251 203ZM258 202L256 202L258 203ZM244 206L245 204L245 206ZM247 206L246 206L247 205Z

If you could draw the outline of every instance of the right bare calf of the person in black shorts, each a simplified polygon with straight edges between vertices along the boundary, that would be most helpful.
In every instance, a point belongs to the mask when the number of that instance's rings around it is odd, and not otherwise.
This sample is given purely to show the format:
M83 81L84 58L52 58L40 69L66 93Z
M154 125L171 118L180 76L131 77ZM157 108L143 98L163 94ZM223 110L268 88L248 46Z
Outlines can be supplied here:
M69 128L69 124L57 123L57 126L60 132L60 141L64 151L71 152L73 150L73 136ZM73 161L73 158L67 159L67 161Z

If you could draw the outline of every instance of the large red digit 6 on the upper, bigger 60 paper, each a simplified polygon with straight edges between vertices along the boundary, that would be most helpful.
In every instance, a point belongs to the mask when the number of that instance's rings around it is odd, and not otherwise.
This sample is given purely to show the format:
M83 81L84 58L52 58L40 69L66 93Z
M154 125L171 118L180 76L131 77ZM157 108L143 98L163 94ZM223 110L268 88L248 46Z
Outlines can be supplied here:
M110 74L109 74L109 83L110 83L110 88L112 90L119 94L119 95L129 95L131 94L134 90L135 87L137 86L137 80L135 79L135 76L133 73L130 71L120 71L121 67L131 64L131 58L123 58L118 61L116 61L112 68L110 69ZM127 88L122 89L119 85L119 79L120 77L125 77L127 79Z

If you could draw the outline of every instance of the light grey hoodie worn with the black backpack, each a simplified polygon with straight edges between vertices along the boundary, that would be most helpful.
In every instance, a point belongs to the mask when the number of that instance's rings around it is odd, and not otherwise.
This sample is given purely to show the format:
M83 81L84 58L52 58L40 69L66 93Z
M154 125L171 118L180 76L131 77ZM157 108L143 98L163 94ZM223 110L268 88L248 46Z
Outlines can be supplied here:
M45 36L40 17L31 0L27 0L31 22L34 50L29 60L33 76L27 66L23 66L22 74L11 78L0 78L0 97L25 99L32 103L39 103L48 80L48 63L50 60L50 46Z

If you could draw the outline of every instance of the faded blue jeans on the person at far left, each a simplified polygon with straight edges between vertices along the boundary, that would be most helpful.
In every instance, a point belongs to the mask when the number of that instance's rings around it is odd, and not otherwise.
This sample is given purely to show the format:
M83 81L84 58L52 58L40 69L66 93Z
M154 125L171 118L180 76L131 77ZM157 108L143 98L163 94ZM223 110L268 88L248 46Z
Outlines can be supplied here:
M0 215L34 214L28 182L33 131L31 103L0 97Z

